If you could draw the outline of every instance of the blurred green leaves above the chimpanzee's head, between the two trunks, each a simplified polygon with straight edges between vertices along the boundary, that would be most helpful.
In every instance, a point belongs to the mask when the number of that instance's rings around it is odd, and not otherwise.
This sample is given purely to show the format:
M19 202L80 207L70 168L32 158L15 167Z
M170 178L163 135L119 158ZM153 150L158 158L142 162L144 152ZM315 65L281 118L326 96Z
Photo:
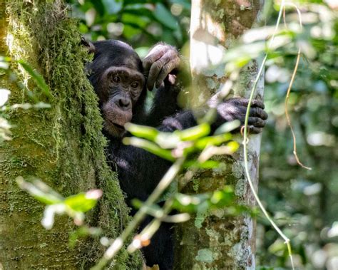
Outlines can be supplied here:
M188 38L188 0L69 2L81 20L80 31L91 40L115 38L145 47L165 41L181 47Z

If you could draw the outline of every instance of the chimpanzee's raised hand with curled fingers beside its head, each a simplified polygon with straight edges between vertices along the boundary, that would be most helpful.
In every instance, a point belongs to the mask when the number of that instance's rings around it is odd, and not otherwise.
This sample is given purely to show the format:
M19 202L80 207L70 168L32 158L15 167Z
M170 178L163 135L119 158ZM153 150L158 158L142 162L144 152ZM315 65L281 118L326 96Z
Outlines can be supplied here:
M147 88L159 88L167 76L180 66L180 54L175 47L165 43L155 45L143 59L145 76L148 75ZM171 81L174 83L175 80Z

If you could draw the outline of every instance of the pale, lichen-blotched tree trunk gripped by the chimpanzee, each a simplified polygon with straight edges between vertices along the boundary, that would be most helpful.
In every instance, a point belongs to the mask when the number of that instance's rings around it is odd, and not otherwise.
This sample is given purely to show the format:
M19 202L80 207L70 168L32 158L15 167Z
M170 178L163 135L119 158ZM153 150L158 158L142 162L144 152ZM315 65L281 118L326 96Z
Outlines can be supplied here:
M227 48L257 21L259 0L192 1L190 26L190 66L194 103L210 98L227 81L222 57ZM260 66L252 61L242 68L239 83L232 87L236 97L250 95ZM257 86L262 99L264 79ZM238 142L242 142L240 136ZM250 176L257 188L261 135L250 135ZM255 206L255 199L245 177L242 147L231 157L221 157L222 170L203 171L186 188L187 193L211 192L233 185L238 204ZM198 212L176 229L175 269L255 269L255 221L248 215L226 217L225 209Z

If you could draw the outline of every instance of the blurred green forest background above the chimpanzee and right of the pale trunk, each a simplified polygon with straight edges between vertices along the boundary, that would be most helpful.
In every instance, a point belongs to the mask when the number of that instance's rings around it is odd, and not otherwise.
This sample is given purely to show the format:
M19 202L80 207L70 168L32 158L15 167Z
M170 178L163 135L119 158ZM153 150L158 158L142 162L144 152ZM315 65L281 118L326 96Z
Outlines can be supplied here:
M183 48L188 43L190 1L68 0L79 30L89 40L107 38L130 43L141 57L158 41ZM329 4L330 6L327 6ZM267 25L275 24L272 4ZM276 51L265 70L265 105L260 198L292 240L300 269L338 269L338 5L335 1L301 1L304 31ZM297 13L287 11L292 28ZM289 110L297 136L297 165L285 118L285 94L302 55L290 95ZM264 217L257 222L257 266L287 269L287 250Z

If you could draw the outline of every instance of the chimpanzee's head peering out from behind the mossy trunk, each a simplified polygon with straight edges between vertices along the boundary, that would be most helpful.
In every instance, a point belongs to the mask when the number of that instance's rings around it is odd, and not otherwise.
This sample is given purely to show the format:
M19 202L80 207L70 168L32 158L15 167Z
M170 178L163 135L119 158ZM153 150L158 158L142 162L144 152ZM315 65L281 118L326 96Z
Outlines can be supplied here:
M87 69L99 98L103 127L110 135L120 137L125 131L123 125L144 103L142 62L133 48L121 41L97 41L89 46L94 58Z

